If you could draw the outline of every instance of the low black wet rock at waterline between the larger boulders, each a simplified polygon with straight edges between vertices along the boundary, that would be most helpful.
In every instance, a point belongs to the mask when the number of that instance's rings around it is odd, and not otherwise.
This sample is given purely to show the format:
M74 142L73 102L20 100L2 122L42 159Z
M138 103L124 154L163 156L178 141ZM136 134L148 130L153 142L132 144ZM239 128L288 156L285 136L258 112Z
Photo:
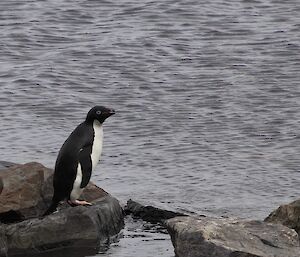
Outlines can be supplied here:
M177 216L186 216L183 213L159 209L153 206L144 206L131 199L127 201L124 208L126 214L132 214L134 217L141 218L144 221L152 223L162 223L167 219Z

